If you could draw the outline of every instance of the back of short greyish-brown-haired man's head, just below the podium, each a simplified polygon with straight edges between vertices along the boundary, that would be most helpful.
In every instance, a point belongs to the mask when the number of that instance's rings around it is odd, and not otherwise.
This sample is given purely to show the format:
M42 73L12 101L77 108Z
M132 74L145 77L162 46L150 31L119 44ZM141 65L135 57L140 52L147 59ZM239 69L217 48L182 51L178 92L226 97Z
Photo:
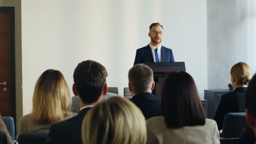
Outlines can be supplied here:
M153 83L153 70L148 65L136 64L129 70L128 79L133 92L149 92Z

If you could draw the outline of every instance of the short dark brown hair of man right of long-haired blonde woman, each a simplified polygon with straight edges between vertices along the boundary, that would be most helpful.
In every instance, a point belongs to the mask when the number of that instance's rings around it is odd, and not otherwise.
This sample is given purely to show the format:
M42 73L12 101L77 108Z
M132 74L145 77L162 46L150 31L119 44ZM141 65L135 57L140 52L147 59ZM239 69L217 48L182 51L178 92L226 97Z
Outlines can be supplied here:
M106 69L95 61L83 61L74 70L74 84L83 103L95 103L106 82Z

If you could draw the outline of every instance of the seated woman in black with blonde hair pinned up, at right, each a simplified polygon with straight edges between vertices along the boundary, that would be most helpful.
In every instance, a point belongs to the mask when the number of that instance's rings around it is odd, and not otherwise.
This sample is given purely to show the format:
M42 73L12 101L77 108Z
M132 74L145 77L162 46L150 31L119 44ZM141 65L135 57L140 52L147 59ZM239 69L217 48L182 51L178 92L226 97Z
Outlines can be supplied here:
M251 78L249 65L243 62L237 63L231 68L230 74L235 91L222 95L214 117L219 130L223 127L226 113L245 112L245 92Z

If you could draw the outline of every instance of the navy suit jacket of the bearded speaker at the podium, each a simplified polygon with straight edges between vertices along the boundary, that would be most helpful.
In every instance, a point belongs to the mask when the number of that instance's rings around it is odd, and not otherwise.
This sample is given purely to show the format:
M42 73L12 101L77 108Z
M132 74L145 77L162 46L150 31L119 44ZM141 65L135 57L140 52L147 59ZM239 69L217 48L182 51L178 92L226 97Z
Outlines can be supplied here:
M162 62L174 62L174 57L171 49L164 46L161 47ZM134 64L154 62L152 50L149 44L141 49L137 49Z

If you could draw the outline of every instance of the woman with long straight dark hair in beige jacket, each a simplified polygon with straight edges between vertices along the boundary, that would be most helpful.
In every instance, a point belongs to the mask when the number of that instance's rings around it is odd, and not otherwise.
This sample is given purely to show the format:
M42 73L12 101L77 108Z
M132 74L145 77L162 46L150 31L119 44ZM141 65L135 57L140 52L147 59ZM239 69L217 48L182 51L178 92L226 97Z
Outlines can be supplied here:
M162 95L163 116L147 121L147 143L220 143L215 121L205 118L193 78L186 72L167 76Z

